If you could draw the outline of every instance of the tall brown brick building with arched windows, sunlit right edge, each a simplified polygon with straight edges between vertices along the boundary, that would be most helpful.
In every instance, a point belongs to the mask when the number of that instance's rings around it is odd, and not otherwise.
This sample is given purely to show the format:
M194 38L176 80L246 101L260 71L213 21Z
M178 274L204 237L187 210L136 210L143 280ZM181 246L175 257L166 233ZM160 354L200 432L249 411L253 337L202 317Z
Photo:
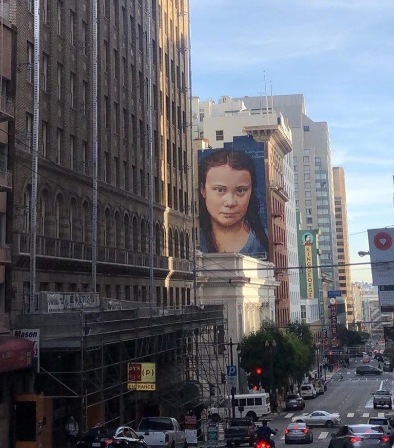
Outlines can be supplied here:
M33 3L10 1L16 25L14 309L27 306L33 126ZM192 240L187 126L187 15L152 1L154 301L190 303ZM41 2L37 291L88 291L92 254L91 2ZM97 291L149 300L149 149L146 8L99 1ZM191 195L190 195L191 196Z

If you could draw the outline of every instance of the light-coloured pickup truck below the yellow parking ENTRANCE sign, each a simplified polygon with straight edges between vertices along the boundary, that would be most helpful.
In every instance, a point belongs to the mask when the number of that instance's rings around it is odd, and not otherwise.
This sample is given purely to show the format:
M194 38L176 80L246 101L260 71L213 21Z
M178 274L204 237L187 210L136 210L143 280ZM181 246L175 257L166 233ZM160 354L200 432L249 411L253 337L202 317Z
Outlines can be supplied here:
M136 433L148 447L187 448L185 433L172 417L144 417Z

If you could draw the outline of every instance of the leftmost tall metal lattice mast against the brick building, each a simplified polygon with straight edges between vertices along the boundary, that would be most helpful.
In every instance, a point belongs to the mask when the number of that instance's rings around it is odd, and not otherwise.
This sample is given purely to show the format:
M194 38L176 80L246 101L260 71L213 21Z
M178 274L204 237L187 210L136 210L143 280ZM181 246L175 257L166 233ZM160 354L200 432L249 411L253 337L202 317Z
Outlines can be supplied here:
M30 206L30 311L34 310L36 284L36 225L38 177L38 123L40 122L40 0L34 0L34 105L33 144L31 152L31 206ZM32 70L32 67L30 67Z

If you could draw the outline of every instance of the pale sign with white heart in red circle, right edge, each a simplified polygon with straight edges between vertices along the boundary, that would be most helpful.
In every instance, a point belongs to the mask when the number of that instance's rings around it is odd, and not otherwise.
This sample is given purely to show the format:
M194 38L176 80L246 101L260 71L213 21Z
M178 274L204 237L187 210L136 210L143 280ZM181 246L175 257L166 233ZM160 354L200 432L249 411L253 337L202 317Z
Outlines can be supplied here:
M368 229L372 284L394 284L394 229Z

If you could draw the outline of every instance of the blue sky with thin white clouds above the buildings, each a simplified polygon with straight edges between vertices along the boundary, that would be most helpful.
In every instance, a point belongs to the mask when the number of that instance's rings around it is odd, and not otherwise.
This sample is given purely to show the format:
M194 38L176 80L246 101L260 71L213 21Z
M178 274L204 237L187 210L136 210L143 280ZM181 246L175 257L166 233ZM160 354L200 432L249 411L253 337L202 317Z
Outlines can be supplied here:
M394 225L394 0L192 0L193 94L303 93L345 169L352 262ZM369 267L352 280L370 281Z

